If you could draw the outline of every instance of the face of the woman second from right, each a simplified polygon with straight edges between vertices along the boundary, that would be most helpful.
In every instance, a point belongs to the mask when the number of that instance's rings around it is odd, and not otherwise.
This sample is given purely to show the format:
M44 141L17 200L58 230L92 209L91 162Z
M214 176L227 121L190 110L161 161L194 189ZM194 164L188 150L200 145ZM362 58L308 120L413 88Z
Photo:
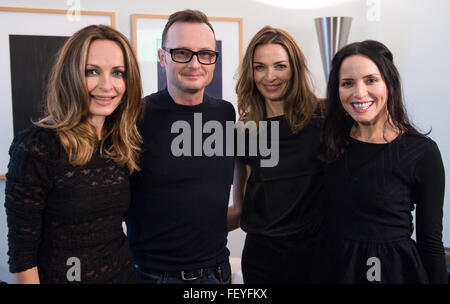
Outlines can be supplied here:
M282 101L292 78L286 50L279 44L263 44L255 49L253 75L256 88L266 102Z

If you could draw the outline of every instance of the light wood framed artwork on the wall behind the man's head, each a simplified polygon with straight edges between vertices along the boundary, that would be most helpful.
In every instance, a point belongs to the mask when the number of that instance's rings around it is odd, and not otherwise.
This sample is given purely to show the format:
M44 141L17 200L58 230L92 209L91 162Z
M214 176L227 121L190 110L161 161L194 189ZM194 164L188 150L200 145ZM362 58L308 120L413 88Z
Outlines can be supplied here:
M166 87L165 70L159 64L158 49L167 15L132 15L132 39L142 75L144 95ZM242 60L242 18L208 17L214 28L217 50L220 52L206 94L236 105L235 75Z

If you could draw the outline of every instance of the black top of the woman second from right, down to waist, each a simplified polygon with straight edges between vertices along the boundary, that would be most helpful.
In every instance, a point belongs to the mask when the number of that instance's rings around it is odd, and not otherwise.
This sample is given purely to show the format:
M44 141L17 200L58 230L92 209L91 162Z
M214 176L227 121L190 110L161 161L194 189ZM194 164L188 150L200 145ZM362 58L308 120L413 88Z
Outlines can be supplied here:
M269 130L273 122L278 122L280 128L278 164L262 167L260 155L240 157L251 167L241 228L270 237L312 236L323 218L323 164L317 158L321 119L313 118L297 134L292 133L284 116L267 119Z

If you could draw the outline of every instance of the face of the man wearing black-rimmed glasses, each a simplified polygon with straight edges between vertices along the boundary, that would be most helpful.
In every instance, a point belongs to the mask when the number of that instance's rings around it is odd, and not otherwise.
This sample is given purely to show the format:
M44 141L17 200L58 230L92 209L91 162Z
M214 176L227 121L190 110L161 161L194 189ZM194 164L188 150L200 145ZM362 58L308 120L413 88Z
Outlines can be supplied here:
M216 39L205 23L175 22L167 32L165 48L214 51ZM169 92L177 95L203 92L213 78L215 65L200 64L197 56L193 56L190 62L178 63L167 51L159 49L158 55L161 66L166 69Z

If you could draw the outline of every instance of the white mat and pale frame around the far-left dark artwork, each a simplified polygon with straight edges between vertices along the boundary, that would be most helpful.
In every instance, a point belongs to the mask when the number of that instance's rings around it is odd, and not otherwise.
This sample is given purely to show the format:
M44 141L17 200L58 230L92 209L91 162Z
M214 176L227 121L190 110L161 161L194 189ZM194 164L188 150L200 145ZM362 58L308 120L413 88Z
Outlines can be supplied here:
M5 178L14 136L9 35L71 36L91 24L115 27L115 13L0 7L0 179Z

